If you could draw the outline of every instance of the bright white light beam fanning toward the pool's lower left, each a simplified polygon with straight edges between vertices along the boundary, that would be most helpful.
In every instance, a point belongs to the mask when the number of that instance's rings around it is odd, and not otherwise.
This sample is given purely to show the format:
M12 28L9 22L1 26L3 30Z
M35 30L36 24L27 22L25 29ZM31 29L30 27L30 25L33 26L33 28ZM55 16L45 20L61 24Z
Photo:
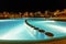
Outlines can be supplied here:
M18 28L14 28L13 30L6 33L3 36L1 36L1 40L15 40L13 38L16 34L24 31L24 25L19 25Z

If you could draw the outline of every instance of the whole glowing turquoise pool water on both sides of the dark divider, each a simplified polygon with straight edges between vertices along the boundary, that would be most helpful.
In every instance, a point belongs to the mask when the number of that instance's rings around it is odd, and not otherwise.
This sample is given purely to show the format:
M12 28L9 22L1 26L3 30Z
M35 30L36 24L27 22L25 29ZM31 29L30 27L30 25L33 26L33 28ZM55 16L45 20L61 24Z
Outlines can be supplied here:
M66 22L28 20L32 25L54 34L48 37L26 25L24 21L25 19L0 20L0 40L48 40L66 36Z

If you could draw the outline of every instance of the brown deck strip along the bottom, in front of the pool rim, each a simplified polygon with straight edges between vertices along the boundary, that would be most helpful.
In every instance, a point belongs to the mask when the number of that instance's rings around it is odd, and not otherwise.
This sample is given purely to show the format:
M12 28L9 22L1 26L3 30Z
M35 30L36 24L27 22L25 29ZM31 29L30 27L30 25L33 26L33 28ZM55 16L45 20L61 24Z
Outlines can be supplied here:
M48 42L0 42L0 44L66 44L65 40L56 40L56 41L48 41Z

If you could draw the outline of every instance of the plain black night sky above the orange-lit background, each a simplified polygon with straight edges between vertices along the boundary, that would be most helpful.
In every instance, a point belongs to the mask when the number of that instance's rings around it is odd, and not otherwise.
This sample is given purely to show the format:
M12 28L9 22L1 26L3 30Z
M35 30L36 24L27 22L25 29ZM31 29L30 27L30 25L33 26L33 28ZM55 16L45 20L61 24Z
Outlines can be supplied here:
M65 0L0 0L0 11L45 11L64 8Z

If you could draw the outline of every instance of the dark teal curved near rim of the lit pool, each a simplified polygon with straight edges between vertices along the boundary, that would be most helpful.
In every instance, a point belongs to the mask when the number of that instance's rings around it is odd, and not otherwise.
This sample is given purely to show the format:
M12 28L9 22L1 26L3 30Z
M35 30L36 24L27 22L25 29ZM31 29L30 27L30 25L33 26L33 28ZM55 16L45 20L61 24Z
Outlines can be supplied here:
M54 38L50 38L50 40L0 40L0 42L54 42L54 41L62 41L62 40L66 40L66 36L63 37L54 37Z

